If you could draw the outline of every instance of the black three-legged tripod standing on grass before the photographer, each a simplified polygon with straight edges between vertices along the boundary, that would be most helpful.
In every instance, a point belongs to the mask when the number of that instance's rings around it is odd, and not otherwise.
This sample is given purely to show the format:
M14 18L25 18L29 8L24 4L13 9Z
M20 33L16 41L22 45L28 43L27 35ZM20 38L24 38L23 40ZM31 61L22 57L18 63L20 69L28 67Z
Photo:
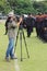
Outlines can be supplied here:
M22 58L22 35L23 35L23 39L24 39L24 44L25 44L25 49L26 49L27 58L30 58L30 55L28 55L27 45L26 45L26 40L25 40L23 28L22 29L19 28L19 31L17 31L16 42L15 42L15 48L16 48L16 44L17 44L19 33L20 33L21 61L22 61L23 60L23 58ZM14 52L15 52L15 48L14 48Z

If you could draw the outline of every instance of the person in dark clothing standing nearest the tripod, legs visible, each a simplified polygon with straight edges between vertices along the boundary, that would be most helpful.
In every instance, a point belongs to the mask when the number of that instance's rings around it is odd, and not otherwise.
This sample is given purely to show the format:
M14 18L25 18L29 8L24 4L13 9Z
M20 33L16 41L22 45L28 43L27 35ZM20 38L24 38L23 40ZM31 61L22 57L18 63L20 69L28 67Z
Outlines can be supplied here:
M27 37L31 36L31 33L33 32L33 17L31 14L26 17L26 29L27 29Z

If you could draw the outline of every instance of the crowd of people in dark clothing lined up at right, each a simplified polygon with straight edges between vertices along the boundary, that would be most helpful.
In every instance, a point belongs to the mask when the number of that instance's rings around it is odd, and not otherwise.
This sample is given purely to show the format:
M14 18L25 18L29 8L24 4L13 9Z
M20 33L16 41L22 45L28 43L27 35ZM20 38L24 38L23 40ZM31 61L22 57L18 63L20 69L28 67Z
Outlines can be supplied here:
M28 14L28 16L24 20L24 25L26 25L27 37L31 36L31 33L35 27L37 37L47 42L47 14Z

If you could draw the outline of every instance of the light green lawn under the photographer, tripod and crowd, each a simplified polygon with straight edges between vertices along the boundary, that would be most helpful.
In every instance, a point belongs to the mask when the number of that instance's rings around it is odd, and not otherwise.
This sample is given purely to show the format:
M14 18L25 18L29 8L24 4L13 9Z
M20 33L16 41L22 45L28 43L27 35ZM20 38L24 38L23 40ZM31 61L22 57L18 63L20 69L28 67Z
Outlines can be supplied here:
M0 71L15 71L14 60L7 62L4 60L8 46L8 36L4 34L4 25L0 23ZM27 58L24 42L23 42L23 61L21 62L20 40L16 46L16 55L19 59L20 71L47 71L47 43L43 43L36 37L36 32L32 33L31 38L26 37L30 59Z

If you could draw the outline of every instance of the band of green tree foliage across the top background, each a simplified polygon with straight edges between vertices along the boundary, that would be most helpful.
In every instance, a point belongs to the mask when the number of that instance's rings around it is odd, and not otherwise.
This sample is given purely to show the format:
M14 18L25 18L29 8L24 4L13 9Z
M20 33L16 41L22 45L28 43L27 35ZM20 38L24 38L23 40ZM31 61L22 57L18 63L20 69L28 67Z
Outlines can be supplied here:
M0 0L0 12L9 13L14 10L15 13L33 13L47 12L47 1L33 1L33 0Z

